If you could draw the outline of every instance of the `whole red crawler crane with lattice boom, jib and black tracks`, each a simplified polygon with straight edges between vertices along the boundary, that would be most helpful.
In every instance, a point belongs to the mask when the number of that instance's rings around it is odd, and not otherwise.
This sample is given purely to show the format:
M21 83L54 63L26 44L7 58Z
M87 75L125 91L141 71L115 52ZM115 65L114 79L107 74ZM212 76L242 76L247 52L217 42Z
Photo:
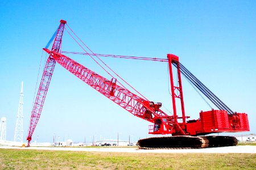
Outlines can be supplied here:
M61 38L63 36L64 26L67 22L64 20L60 20L59 28L56 31L55 41L53 42L52 50L48 50L44 48L44 50L49 54L47 59L46 66L44 68L44 73L42 76L42 80L39 86L38 95L36 96L36 100L34 103L34 108L31 113L31 121L30 121L30 129L28 131L27 141L28 146L30 146L30 141L32 134L35 130L36 124L38 123L40 113L42 112L44 99L47 94L47 90L49 87L49 82L51 80L51 76L53 73L53 69L55 63L59 63L65 69L70 71L72 74L77 76L83 82L89 84L89 86L93 87L95 90L100 92L102 95L108 97L110 100L114 101L114 103L118 104L122 108L126 109L126 111L134 114L139 118L143 118L146 121L154 123L154 125L150 125L150 134L172 134L173 136L183 135L185 137L166 137L166 138L149 138L143 139L139 141L139 144L142 147L184 147L187 146L184 143L191 143L189 147L206 147L205 143L210 143L209 137L190 137L190 135L205 135L210 133L220 133L220 132L236 132L236 131L249 131L249 123L247 119L246 113L236 113L231 111L218 97L216 97L212 92L208 90L207 87L204 86L195 76L190 73L181 63L179 62L179 57L173 54L167 54L168 59L160 59L160 58L142 58L137 57L133 59L145 59L145 60L154 60L154 61L162 61L168 62L168 66L170 69L170 79L171 79L171 92L172 92L172 105L174 115L168 116L168 114L164 113L160 107L162 103L154 103L152 101L148 101L147 99L143 99L139 97L125 87L118 86L117 80L112 78L108 80L97 73L94 73L92 70L89 70L85 66L80 65L73 59L64 56L60 52L61 46ZM96 56L97 54L89 54L84 53L86 55ZM99 56L104 54L98 54ZM111 55L105 55L106 57L111 57ZM112 56L113 57L113 56ZM115 56L117 57L117 56ZM119 58L122 58L119 56ZM123 58L129 58L129 56L123 56ZM179 86L174 86L174 78L172 75L172 65L177 68L178 74L178 84ZM184 102L183 102L183 91L181 84L181 73L189 80L194 87L198 88L205 96L208 97L210 101L218 109L208 112L201 112L199 120L189 120L186 122L186 119L189 118L185 116L184 110ZM177 116L176 111L176 98L180 99L181 103L181 117ZM181 120L179 122L178 120ZM187 138L187 136L189 138ZM183 141L182 145L176 146L171 145L174 140L177 143L177 139ZM200 139L200 145L197 146L194 143L195 140ZM189 141L192 140L192 141ZM193 141L194 140L194 141ZM203 140L203 142L202 142ZM223 138L222 138L223 140ZM228 138L230 140L230 138ZM165 141L165 142L163 142ZM178 143L180 143L180 141ZM219 139L217 140L218 143ZM159 144L162 143L162 144ZM216 140L214 141L214 145L212 146L222 146L222 145L233 145L236 141L231 140L231 142L223 142L222 144L218 143L216 145ZM148 145L148 143L155 143L154 145ZM163 145L164 143L164 145ZM204 146L201 145L204 143ZM230 144L231 143L231 144Z

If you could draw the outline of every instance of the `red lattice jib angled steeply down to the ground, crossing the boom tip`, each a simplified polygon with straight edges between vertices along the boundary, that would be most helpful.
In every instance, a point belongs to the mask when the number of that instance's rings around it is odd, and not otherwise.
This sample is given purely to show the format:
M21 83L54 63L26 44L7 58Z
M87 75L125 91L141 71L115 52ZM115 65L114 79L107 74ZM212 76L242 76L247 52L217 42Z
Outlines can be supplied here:
M59 28L57 29L56 37L52 45L52 50L51 50L52 52L60 51L61 39L63 36L64 25L66 23L67 22L65 20L60 20L60 25L59 25ZM47 59L46 66L44 67L44 72L39 85L38 94L36 95L34 107L31 112L30 128L28 129L28 135L27 135L28 146L30 146L32 134L34 133L36 124L38 124L38 120L40 118L40 114L43 109L44 100L46 99L46 94L48 91L49 83L52 78L52 73L55 67L55 63L56 63L55 59L53 59L50 55Z

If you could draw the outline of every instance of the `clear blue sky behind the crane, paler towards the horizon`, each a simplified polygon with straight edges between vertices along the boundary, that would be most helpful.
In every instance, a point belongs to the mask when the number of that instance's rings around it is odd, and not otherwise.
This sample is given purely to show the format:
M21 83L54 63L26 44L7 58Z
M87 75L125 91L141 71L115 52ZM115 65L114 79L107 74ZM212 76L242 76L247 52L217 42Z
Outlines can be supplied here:
M42 48L60 19L67 20L94 53L158 58L176 54L233 111L248 113L249 133L256 133L255 8L255 1L1 1L0 117L7 118L7 140L14 138L22 81L26 139ZM67 32L63 50L82 52ZM70 57L102 73L91 59ZM104 61L172 112L167 63ZM183 88L187 115L196 119L201 110L210 109L184 78ZM54 134L73 141L86 137L88 142L93 135L109 139L117 133L122 140L129 135L138 139L150 136L148 125L56 65L32 141L52 142Z

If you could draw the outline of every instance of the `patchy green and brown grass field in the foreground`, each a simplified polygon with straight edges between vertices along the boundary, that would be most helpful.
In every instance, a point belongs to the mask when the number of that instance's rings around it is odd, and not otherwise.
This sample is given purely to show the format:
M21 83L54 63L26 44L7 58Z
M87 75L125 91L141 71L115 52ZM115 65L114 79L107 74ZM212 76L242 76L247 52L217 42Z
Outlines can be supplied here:
M255 169L256 154L138 154L0 149L0 169Z

